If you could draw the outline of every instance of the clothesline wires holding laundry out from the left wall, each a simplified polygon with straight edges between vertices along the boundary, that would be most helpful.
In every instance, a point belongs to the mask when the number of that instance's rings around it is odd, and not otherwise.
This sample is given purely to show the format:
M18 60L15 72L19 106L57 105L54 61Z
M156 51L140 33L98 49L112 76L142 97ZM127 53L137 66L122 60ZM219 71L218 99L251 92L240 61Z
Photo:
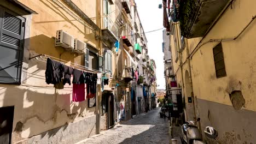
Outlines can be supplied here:
M88 71L88 72L91 72L91 73L103 73L102 71L98 71L98 70L92 70L90 68L87 68L83 65L79 65L77 63L72 63L72 62L68 62L68 61L65 61L63 59L60 59L60 58L56 58L56 57L53 57L53 56L49 56L49 55L38 55L36 57L33 57L35 59L37 59L38 61L40 62L45 62L47 61L47 58L51 58L53 59L54 61L57 61L57 62L65 62L65 63L70 63L70 65L68 65L69 67L77 67L78 70L82 70L82 71ZM66 65L66 64L65 64Z

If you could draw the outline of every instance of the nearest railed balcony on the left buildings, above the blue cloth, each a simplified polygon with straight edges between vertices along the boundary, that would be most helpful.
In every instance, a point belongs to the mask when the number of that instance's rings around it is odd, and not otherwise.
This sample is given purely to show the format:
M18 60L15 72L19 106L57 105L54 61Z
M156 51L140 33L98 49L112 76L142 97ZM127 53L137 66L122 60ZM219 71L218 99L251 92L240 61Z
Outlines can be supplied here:
M103 28L102 32L102 40L109 46L113 47L115 41L118 40L118 27L115 25L113 20L109 15L103 16Z

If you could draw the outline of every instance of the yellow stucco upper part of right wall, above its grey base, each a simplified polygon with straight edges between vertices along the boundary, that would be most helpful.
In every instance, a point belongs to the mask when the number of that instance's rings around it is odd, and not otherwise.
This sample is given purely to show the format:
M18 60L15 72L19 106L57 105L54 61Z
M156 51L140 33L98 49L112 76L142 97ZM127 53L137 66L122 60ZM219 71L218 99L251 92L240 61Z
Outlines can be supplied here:
M210 39L235 38L256 14L255 4L254 1L235 1L232 9L229 8L225 12L202 42ZM255 31L254 21L238 39L222 41L227 75L225 77L217 79L214 68L212 49L219 42L205 44L195 53L192 59L192 76L194 94L197 98L232 105L229 93L241 90L245 98L243 109L256 111Z

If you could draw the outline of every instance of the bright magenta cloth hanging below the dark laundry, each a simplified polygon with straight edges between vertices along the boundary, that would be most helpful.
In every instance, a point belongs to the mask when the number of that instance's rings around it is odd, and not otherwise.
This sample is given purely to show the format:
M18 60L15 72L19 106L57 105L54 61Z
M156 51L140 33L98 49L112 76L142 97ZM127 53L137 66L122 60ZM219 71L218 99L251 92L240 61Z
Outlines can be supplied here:
M73 83L73 97L72 101L79 102L85 100L85 84L75 84Z

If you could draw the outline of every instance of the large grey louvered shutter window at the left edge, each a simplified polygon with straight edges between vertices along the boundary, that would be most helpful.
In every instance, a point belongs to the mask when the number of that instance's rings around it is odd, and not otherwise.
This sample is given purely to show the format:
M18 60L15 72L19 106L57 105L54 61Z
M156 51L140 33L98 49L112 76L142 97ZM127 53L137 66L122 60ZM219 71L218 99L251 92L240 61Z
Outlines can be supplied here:
M25 18L0 7L0 83L21 82Z

